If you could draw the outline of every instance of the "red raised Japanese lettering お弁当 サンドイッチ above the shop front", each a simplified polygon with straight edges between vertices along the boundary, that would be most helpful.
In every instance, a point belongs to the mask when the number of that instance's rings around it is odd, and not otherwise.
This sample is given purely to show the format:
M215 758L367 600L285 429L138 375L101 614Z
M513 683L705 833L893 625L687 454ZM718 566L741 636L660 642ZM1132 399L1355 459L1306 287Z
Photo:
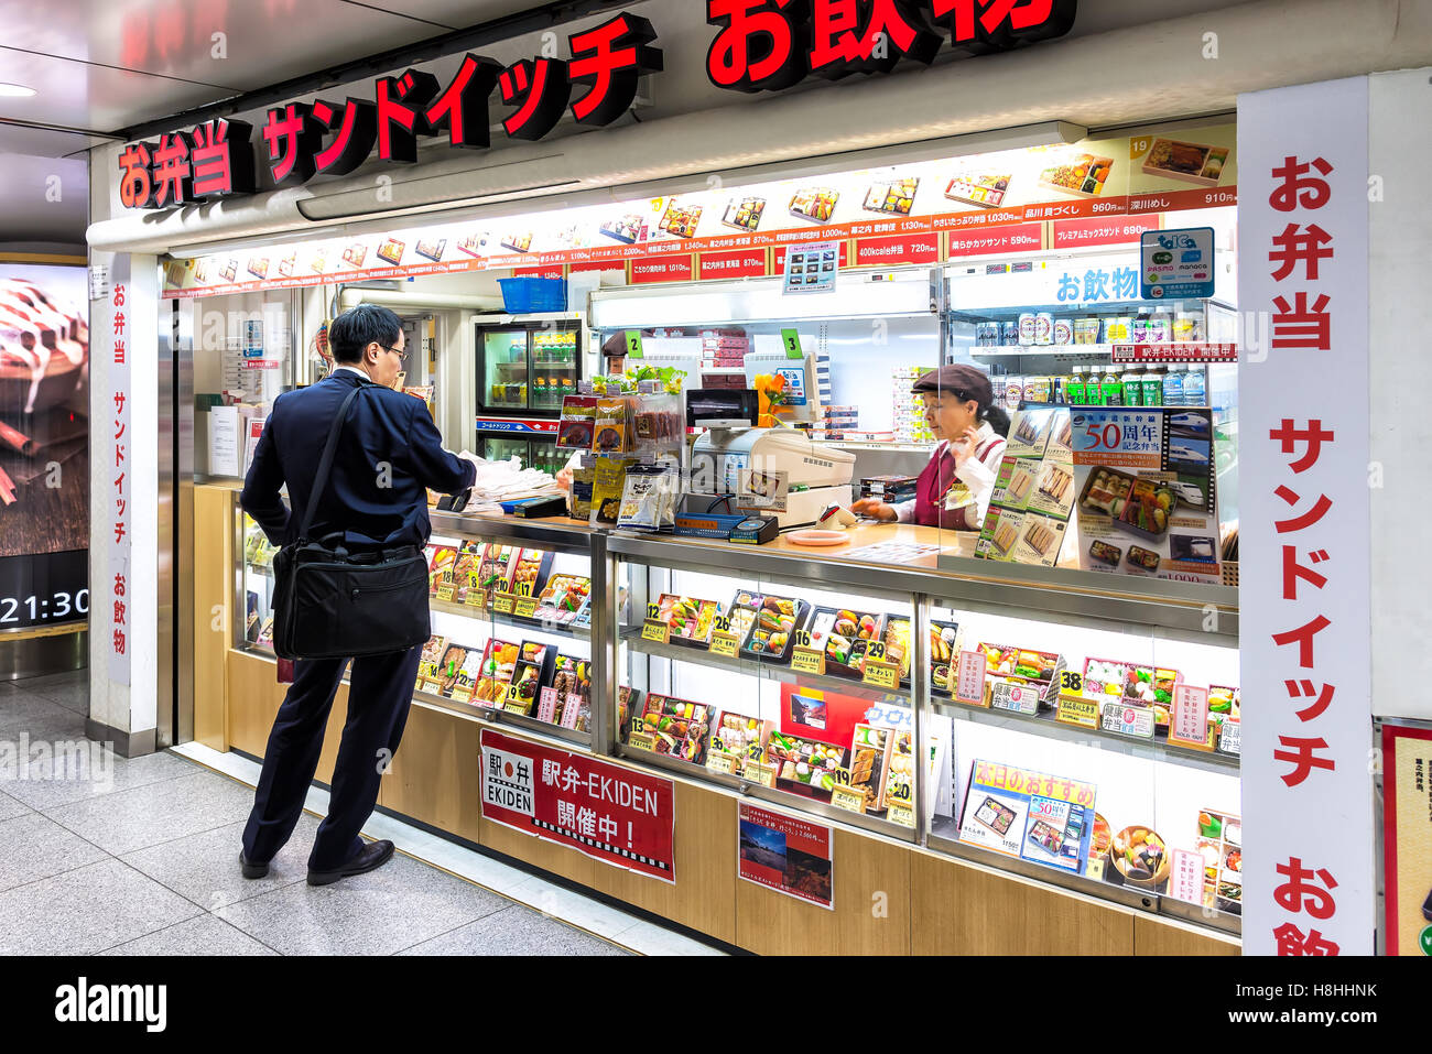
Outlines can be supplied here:
M349 97L276 106L255 146L278 186L298 186L316 175L347 175L375 148L381 160L411 165L420 137L445 135L451 148L487 149L494 90L516 107L503 119L511 139L541 139L567 109L579 125L610 125L632 109L639 77L662 69L654 42L650 21L621 13L567 37L570 60L536 57L504 67L467 54L445 86L431 73L410 69L398 77L378 77L375 102ZM163 209L253 193L251 133L243 122L211 120L192 133L130 143L119 158L120 200L129 209Z

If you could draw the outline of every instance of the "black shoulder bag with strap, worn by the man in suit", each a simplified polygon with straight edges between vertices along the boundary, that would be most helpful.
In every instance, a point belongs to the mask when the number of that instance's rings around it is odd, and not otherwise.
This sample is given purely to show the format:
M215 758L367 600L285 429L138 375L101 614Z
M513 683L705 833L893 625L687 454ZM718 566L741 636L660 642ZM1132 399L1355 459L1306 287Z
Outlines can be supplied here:
M311 541L318 500L334 467L344 400L318 463L298 538L274 556L274 650L281 659L345 659L402 652L427 642L428 564L415 546L349 554L342 536ZM337 537L334 544L331 540Z

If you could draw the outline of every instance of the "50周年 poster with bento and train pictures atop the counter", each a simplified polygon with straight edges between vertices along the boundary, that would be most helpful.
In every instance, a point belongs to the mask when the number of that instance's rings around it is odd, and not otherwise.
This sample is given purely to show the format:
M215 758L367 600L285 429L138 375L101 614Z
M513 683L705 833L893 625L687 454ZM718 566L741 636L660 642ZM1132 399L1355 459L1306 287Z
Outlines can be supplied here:
M1083 570L1221 581L1213 412L1070 411Z

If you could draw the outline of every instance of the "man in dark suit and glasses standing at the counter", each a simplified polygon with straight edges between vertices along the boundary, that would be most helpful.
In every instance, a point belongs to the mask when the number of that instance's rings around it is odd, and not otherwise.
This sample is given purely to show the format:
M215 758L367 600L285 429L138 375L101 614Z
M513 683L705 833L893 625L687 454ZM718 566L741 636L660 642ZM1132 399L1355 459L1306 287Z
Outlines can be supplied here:
M477 458L453 454L422 400L391 388L402 368L404 334L387 308L362 304L328 328L335 368L311 388L274 401L243 483L243 511L269 541L294 541L298 516L284 504L288 484L292 508L308 507L324 443L338 408L362 388L348 411L328 485L318 501L311 538L342 533L349 551L427 544L427 488L457 494L473 485ZM318 828L308 858L308 884L328 885L359 875L392 856L392 842L365 845L358 836L378 801L378 782L398 749L412 702L422 649L355 659L328 816ZM295 663L288 690L263 753L263 772L253 812L243 829L239 864L245 878L262 878L304 811L304 796L318 768L324 729L347 659Z

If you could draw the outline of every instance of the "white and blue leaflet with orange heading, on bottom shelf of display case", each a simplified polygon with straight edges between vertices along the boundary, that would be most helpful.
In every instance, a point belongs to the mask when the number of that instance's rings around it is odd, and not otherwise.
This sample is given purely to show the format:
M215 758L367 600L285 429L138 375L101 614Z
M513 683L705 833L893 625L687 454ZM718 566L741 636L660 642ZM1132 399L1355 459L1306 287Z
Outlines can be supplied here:
M959 841L1084 874L1094 828L1093 783L975 760Z

